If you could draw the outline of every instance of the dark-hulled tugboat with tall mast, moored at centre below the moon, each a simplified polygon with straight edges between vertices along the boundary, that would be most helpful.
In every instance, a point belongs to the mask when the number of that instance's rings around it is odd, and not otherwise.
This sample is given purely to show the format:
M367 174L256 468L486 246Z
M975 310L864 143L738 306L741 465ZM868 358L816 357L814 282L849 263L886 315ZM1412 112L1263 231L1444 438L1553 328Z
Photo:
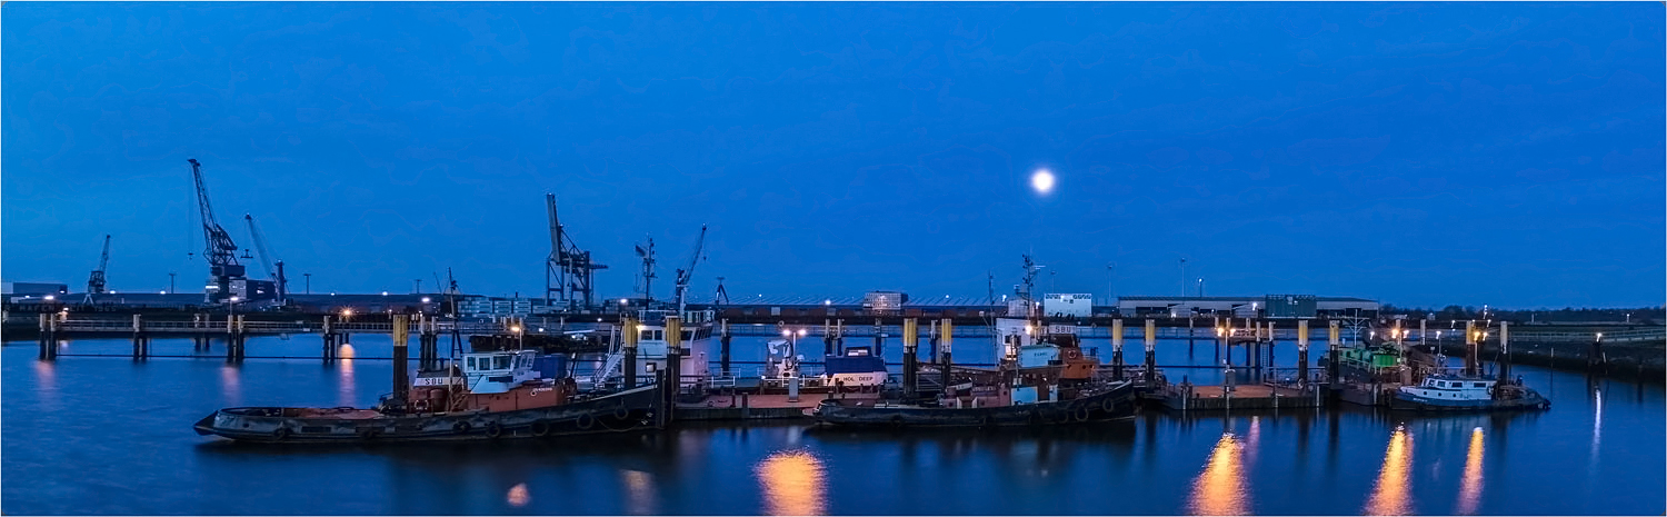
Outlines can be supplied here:
M972 382L957 385L945 364L939 369L945 390L937 399L877 404L828 399L817 407L817 420L857 427L1000 427L1080 424L1132 415L1134 384L1095 379L1099 360L1082 354L1075 329L1042 325L1040 312L1029 302L1035 277L1030 257L1025 257L1025 289L1020 290L1027 307L1025 319L997 322L999 332L1024 329L1024 334L1004 335L995 370L972 370ZM944 355L949 355L952 332L945 327L940 335ZM912 350L914 332L905 330L904 339L905 350ZM909 354L904 359L904 385L910 389L915 385L914 364Z

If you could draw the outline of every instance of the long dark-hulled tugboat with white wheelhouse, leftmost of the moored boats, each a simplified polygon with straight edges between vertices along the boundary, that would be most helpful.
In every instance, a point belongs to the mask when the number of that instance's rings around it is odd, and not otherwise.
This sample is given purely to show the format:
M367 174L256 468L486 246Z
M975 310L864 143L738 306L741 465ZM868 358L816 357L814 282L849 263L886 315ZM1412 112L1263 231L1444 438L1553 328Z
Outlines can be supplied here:
M243 442L358 444L550 437L655 425L658 385L580 392L565 369L535 350L465 354L405 380L403 317L395 317L393 394L373 409L232 407L198 420L200 435ZM545 379L543 370L553 370ZM630 375L635 377L635 375ZM633 379L632 379L633 380ZM633 384L633 382L628 382Z

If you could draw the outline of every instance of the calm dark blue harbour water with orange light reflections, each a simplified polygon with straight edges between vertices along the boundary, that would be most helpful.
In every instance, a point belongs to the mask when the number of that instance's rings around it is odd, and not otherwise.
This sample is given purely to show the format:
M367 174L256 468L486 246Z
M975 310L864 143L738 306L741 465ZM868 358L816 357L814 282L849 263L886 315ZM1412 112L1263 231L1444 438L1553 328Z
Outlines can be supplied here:
M854 345L867 345L867 342ZM248 355L317 357L313 337ZM1100 355L1110 355L1110 345ZM1142 360L1139 340L1125 349ZM553 442L248 447L190 424L230 405L370 405L390 390L387 337L360 359L35 360L0 349L3 514L1515 514L1667 512L1664 389L1517 367L1544 414L1404 417L1344 405L1144 414L1075 429L849 432L683 425ZM887 357L900 354L895 340ZM980 354L980 349L984 350ZM820 340L800 344L820 354ZM1317 347L1312 359L1319 357ZM130 352L77 340L63 354ZM192 355L157 340L158 355ZM715 354L715 350L713 350ZM762 340L737 339L735 360ZM812 355L812 354L805 354ZM989 360L957 340L955 357ZM1275 352L1297 359L1292 344ZM712 357L715 360L715 357ZM1209 340L1159 344L1162 365L1214 364ZM1242 362L1242 355L1235 357ZM745 372L748 367L742 367ZM1172 380L1219 382L1209 369Z

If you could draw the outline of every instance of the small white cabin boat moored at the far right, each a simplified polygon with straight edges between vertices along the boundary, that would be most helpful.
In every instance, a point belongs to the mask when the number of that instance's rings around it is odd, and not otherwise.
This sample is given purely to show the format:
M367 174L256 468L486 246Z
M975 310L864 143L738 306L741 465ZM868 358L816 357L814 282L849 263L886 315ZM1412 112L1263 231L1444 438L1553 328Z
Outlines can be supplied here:
M1437 374L1419 385L1400 387L1390 409L1397 410L1527 410L1549 409L1550 400L1520 380L1479 375Z

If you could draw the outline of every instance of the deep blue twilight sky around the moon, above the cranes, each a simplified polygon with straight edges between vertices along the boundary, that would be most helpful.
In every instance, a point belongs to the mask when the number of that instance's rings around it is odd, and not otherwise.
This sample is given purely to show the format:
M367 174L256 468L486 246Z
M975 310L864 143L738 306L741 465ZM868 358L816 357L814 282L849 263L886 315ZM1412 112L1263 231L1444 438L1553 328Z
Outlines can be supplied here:
M1175 295L1185 257L1210 295L1660 305L1662 25L1659 2L7 2L0 258L82 289L113 233L112 289L200 290L198 158L293 290L453 267L540 292L553 192L610 297L645 235L665 297L708 223L702 297L982 297L987 272L1000 295L1034 252L1057 292Z

